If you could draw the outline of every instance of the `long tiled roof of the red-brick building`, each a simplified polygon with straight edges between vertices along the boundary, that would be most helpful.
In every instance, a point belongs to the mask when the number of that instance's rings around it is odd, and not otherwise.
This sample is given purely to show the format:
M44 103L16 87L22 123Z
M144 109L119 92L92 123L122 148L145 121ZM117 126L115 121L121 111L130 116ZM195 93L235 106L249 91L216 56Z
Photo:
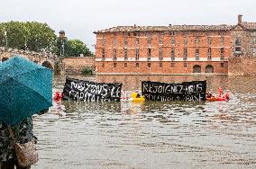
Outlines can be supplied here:
M129 32L129 31L228 31L232 25L169 25L169 26L117 26L94 33Z

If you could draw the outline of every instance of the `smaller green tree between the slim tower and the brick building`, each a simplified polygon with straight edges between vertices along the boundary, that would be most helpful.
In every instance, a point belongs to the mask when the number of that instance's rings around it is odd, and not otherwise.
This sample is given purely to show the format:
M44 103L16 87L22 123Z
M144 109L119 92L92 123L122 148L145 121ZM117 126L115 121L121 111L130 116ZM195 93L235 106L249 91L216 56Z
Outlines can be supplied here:
M69 40L68 56L79 57L83 54L85 57L94 57L94 54L87 48L87 45L81 40Z

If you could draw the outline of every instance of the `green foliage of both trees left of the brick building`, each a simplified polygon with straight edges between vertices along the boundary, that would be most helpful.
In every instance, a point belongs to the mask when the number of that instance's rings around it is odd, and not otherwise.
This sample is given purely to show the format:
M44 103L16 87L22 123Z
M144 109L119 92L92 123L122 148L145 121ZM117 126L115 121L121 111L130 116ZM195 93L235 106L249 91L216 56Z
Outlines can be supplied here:
M36 52L51 52L59 55L61 39L47 23L41 22L0 22L0 46L13 49L29 49ZM65 56L94 57L94 54L81 40L65 38ZM66 50L67 49L67 50Z

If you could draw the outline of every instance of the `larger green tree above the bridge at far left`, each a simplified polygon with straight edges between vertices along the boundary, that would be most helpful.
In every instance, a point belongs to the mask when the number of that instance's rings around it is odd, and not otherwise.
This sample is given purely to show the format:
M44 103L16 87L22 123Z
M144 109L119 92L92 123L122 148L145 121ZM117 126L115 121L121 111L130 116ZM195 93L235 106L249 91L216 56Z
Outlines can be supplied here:
M6 32L6 36L5 36ZM57 36L47 23L2 22L0 23L0 46L8 48L53 51Z

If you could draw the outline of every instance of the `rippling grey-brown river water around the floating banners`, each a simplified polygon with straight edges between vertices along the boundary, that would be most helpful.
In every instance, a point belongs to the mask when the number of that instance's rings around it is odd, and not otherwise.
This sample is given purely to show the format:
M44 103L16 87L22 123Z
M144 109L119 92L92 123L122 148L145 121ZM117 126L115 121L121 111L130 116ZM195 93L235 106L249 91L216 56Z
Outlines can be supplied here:
M228 76L75 76L120 82L207 80L230 102L54 102L34 117L40 162L32 168L256 168L256 78ZM54 78L61 91L64 76Z

